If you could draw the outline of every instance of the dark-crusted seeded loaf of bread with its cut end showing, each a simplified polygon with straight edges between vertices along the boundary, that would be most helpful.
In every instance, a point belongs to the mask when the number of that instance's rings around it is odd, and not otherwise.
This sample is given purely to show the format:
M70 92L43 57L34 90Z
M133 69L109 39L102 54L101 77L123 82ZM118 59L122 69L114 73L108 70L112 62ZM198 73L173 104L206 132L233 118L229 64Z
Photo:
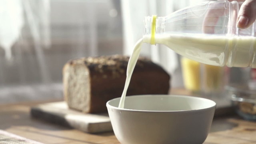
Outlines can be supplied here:
M86 113L107 112L106 102L120 97L126 80L128 56L70 60L63 68L64 99L69 108ZM168 94L170 76L147 58L139 58L127 96Z

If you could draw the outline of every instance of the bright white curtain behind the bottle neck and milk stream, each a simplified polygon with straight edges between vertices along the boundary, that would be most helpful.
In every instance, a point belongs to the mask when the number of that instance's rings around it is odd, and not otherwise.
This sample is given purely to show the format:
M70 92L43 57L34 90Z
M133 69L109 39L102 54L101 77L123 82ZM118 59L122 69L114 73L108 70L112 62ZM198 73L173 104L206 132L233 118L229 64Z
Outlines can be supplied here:
M122 0L122 18L124 32L124 54L130 55L136 41L142 38L144 17L156 14L166 16L180 8L196 4L203 0ZM163 45L144 44L141 56L151 58L172 74L172 86L182 86L181 70L177 54Z

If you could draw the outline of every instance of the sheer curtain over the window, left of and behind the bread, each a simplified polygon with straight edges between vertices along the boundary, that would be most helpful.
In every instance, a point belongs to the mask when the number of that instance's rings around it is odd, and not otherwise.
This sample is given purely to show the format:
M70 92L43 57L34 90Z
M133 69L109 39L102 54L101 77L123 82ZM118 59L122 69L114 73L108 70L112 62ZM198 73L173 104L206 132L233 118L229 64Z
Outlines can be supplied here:
M120 0L0 0L0 104L60 99L68 60L112 54Z

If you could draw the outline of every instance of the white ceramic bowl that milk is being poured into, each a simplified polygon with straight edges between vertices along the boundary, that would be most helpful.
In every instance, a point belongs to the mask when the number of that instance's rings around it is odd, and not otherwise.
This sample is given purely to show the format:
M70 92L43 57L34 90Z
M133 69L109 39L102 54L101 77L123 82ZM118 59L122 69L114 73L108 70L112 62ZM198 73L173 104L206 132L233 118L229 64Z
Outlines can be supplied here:
M116 138L121 144L202 144L216 103L205 98L178 95L127 96L107 102Z

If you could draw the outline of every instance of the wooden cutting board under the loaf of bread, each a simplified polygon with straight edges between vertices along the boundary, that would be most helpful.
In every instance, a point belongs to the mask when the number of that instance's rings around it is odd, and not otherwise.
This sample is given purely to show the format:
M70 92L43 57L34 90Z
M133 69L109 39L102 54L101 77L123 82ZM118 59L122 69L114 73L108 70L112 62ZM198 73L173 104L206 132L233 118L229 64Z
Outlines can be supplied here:
M30 114L34 118L70 126L84 132L112 131L108 114L85 114L69 109L66 102L51 102L33 106Z

